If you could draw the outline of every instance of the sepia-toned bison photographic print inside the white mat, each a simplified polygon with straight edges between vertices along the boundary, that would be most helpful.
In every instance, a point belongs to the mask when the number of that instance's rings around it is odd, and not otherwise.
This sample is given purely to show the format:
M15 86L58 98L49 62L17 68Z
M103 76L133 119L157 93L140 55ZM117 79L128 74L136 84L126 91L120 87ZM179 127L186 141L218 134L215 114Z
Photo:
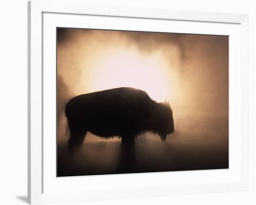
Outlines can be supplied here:
M229 168L229 36L56 32L57 177Z

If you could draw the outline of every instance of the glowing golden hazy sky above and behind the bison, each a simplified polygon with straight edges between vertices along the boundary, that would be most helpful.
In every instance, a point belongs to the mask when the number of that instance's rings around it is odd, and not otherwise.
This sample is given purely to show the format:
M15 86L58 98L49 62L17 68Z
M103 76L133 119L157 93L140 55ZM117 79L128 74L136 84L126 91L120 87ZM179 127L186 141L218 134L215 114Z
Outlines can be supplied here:
M70 98L123 86L169 100L176 122L228 118L228 85L228 36L57 29L58 125Z

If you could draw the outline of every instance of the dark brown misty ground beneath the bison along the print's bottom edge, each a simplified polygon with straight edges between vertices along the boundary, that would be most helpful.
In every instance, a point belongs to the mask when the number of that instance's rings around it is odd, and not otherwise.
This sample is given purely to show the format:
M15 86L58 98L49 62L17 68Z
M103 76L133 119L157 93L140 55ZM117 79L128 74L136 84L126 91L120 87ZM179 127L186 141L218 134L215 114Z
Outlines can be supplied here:
M123 150L118 138L93 136L87 141L86 137L83 147L74 153L67 141L58 141L57 177L229 168L227 120L208 119L206 123L209 125L201 129L176 130L166 141L141 136L129 151ZM212 128L218 129L212 132Z

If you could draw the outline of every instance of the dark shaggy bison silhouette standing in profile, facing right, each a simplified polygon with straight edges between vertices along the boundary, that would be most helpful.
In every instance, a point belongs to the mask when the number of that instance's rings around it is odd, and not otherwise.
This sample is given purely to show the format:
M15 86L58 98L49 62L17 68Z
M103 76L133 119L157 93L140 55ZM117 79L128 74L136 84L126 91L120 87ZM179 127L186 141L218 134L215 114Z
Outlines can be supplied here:
M80 147L87 131L110 138L119 136L122 145L134 144L136 136L152 132L162 141L174 132L168 102L155 102L143 90L115 88L75 96L65 107L71 148Z

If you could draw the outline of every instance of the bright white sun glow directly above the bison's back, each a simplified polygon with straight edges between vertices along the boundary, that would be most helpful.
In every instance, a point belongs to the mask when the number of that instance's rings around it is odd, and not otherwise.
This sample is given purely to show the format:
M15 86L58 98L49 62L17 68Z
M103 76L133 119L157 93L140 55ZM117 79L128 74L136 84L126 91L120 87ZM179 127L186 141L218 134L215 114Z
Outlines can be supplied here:
M90 90L133 87L144 90L157 102L168 99L170 73L161 53L141 54L134 49L115 50L94 65Z

